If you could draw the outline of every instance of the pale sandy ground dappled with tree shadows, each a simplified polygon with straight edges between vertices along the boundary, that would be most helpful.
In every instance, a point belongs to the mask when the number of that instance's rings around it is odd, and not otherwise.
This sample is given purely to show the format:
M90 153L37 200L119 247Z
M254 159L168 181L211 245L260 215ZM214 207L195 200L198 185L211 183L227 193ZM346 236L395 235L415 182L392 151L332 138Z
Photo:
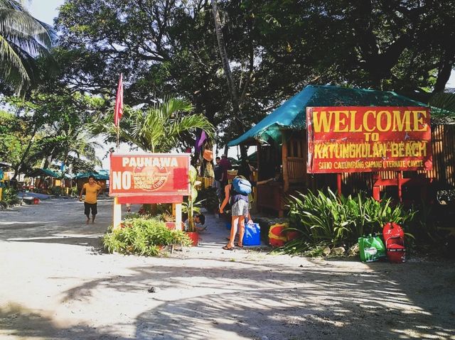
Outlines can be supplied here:
M0 212L0 339L455 339L453 262L223 251L214 216L197 248L112 255L100 247L112 202L96 224L82 209Z

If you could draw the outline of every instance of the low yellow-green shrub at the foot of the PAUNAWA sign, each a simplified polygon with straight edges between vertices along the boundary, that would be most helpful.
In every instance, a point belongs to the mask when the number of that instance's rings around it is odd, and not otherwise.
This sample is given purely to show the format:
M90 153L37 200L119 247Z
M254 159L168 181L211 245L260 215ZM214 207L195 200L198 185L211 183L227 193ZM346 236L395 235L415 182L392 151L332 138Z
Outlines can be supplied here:
M160 248L172 244L189 246L191 240L183 231L170 230L158 219L127 219L122 228L111 227L103 237L109 253L157 256Z

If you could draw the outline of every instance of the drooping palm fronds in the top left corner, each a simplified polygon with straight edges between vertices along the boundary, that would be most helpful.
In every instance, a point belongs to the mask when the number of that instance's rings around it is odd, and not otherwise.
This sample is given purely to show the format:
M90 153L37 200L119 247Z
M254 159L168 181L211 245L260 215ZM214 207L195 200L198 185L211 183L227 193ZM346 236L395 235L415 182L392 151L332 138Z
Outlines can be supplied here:
M0 0L0 79L21 92L35 78L36 57L48 53L53 30L16 0Z

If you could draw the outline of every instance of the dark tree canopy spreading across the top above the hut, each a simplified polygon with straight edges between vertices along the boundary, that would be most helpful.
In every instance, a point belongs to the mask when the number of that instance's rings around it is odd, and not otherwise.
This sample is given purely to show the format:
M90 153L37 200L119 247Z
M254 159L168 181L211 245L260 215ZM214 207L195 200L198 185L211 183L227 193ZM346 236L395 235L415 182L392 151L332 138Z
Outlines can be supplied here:
M178 94L220 136L249 128L306 84L441 91L455 61L454 1L218 1L242 116L235 111L208 0L70 0L56 21L69 84L92 92L127 79L125 100Z

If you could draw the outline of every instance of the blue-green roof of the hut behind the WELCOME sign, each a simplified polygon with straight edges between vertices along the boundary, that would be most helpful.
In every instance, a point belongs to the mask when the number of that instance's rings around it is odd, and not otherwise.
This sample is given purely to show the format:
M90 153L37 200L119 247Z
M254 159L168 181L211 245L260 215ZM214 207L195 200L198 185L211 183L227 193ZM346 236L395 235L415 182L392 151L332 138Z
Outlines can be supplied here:
M281 143L281 128L305 128L306 106L428 106L395 92L373 89L350 89L338 86L309 85L275 111L259 121L228 146L247 141Z

